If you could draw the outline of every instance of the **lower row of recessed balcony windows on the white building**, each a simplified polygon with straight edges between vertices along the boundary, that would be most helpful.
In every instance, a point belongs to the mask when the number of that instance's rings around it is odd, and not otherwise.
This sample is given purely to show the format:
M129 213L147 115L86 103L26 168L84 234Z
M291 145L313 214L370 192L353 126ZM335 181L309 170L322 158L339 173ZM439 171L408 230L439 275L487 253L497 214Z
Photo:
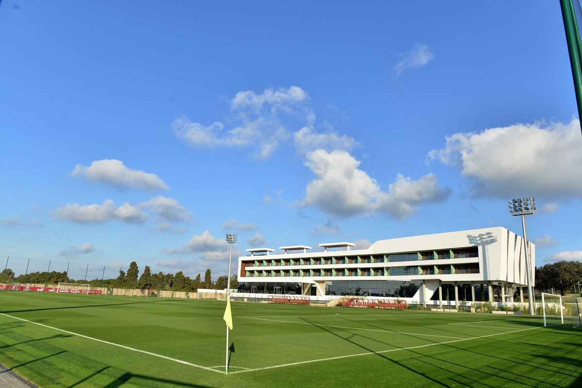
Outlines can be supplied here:
M338 269L272 269L246 270L245 277L313 277L313 276L417 276L417 275L456 275L479 273L477 264L469 265L431 265L382 268L338 268Z

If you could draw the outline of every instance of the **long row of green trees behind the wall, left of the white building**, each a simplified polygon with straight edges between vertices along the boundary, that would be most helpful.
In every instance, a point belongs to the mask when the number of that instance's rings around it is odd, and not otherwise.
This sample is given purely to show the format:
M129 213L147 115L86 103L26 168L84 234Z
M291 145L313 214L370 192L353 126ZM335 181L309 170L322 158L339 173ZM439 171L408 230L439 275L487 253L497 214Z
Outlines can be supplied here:
M6 268L0 273L0 282L58 284L58 283L89 283L91 287L109 287L119 289L140 290L172 290L172 291L197 291L198 289L223 290L228 284L228 276L219 276L216 282L212 281L210 269L207 269L202 280L201 274L194 279L184 275L182 271L173 273L152 273L150 266L146 265L141 275L137 263L132 261L127 269L119 271L116 279L72 279L67 272L31 272L26 275L15 276L12 269ZM236 289L237 276L230 279L230 288Z

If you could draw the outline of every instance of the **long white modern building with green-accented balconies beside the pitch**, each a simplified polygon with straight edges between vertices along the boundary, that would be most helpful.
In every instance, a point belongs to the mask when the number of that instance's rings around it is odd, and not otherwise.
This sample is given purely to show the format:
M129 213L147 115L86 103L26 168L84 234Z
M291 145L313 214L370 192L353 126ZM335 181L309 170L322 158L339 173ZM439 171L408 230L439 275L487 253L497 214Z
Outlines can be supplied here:
M279 247L281 253L247 250L239 257L239 293L458 305L523 301L527 286L524 240L503 227L379 240L365 250L347 242L319 245L323 251L307 245ZM535 263L535 245L528 249Z

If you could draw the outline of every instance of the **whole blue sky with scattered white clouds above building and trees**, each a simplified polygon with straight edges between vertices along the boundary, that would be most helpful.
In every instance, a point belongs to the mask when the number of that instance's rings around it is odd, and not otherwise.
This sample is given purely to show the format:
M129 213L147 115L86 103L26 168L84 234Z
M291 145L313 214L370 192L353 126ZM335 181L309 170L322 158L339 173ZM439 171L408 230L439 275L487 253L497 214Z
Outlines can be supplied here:
M1 257L226 274L503 226L582 259L555 2L0 4ZM315 249L317 250L317 249Z

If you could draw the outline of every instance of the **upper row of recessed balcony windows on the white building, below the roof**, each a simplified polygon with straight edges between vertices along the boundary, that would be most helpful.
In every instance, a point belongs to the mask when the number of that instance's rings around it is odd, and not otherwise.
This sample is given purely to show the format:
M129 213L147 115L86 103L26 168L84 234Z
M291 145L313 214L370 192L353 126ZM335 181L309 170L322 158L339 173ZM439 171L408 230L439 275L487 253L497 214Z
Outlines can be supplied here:
M340 257L311 257L294 259L261 259L254 261L243 261L245 266L292 266L292 265L330 265L330 264L367 264L367 263L389 263L401 261L418 260L438 260L478 257L476 249L469 250L448 250L431 252L414 252L395 255L358 255Z

